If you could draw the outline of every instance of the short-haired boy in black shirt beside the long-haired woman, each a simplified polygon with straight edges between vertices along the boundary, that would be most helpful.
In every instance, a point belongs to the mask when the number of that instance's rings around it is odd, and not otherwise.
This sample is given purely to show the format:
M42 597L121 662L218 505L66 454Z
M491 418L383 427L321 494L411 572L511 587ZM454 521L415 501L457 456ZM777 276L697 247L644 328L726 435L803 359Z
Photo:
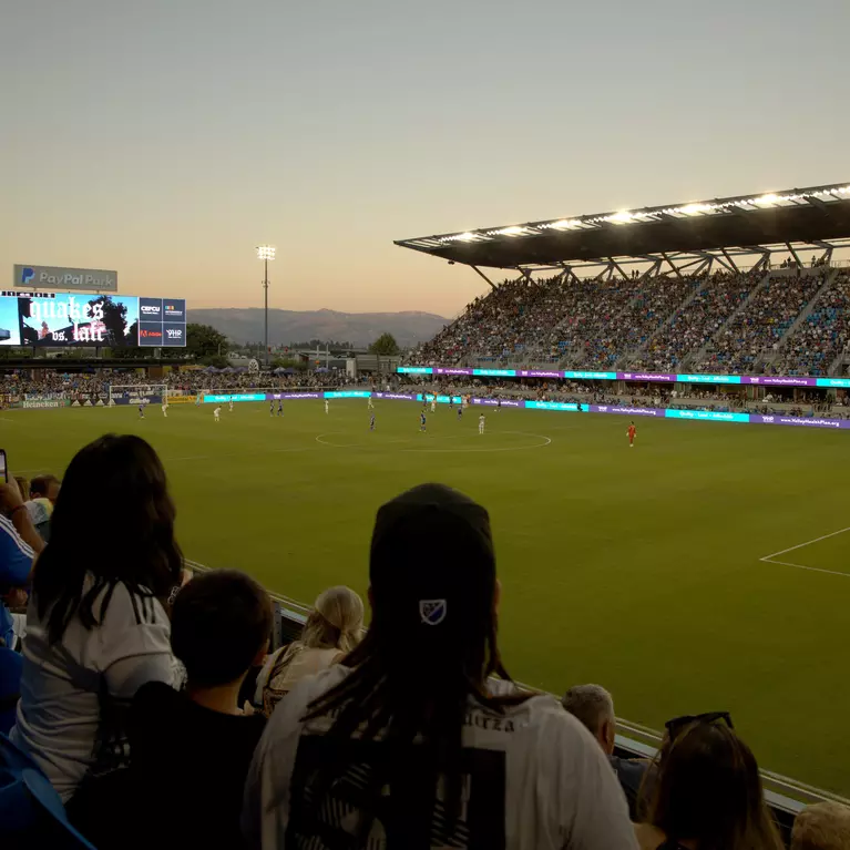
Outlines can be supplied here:
M205 573L177 594L171 641L185 690L149 683L130 709L139 847L243 847L245 776L266 719L243 714L238 695L270 631L268 595L238 571Z

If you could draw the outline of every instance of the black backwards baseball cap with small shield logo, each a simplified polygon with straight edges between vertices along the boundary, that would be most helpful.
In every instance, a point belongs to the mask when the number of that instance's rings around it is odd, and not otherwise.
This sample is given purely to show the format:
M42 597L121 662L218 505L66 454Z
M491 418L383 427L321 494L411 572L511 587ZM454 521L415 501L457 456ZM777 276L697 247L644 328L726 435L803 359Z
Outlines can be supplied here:
M401 493L378 510L369 580L372 627L429 641L477 631L495 592L487 510L444 484Z

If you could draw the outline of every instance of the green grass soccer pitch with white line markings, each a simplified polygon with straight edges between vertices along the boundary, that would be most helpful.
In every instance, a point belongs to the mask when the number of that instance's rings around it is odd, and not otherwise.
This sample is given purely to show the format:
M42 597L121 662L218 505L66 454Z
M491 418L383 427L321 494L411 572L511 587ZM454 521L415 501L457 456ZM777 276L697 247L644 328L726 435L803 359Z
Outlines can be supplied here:
M442 406L423 434L418 404L376 404L375 433L360 399L327 416L287 402L283 419L237 403L218 424L212 404L144 421L134 407L4 411L0 448L12 473L61 474L104 432L144 436L186 556L304 601L363 593L378 505L451 484L492 516L513 676L598 682L656 729L729 709L764 768L850 795L847 433L638 419L629 449L621 417L490 410L479 437L478 410L458 422ZM81 546L96 545L95 515ZM451 541L422 545L437 560Z

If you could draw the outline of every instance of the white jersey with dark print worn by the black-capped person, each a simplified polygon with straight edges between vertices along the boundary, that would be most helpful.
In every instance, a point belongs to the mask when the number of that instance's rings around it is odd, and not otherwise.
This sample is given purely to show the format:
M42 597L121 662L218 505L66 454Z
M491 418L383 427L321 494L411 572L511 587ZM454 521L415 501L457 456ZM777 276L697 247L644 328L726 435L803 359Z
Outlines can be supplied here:
M304 679L275 708L245 787L243 831L249 847L321 850L336 846L316 839L316 825L308 825L303 815L311 808L305 806L310 799L309 778L318 765L336 755L338 745L325 737L330 718L308 724L303 718L314 699L348 674L337 665ZM503 694L512 688L509 683L493 683L491 690ZM470 699L462 745L463 792L454 836L450 839L441 829L444 807L439 798L433 810L430 803L426 810L419 807L410 820L411 832L430 833L430 848L636 850L625 797L602 748L554 697L532 696L506 707L504 714ZM369 785L375 759L381 757L378 749L386 746L354 740L342 776L320 809L320 829L326 834L339 840L355 833L361 822L358 800ZM411 748L406 761L410 775L402 779L410 788L417 787L422 775L417 759L424 755L424 747ZM408 802L410 788L401 789ZM382 800L389 801L395 793L391 790L390 798ZM432 793L433 789L419 787L414 800L428 801ZM380 807L379 801L363 847L395 850L397 842L387 840ZM417 817L419 822L413 823Z

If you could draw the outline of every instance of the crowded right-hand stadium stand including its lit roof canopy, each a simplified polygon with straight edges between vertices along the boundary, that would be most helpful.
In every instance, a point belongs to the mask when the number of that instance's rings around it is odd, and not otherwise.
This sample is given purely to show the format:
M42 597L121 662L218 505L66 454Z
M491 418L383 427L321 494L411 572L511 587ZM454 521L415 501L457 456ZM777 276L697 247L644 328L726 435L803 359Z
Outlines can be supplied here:
M491 287L411 362L844 372L844 184L396 244ZM516 276L496 285L487 268Z

